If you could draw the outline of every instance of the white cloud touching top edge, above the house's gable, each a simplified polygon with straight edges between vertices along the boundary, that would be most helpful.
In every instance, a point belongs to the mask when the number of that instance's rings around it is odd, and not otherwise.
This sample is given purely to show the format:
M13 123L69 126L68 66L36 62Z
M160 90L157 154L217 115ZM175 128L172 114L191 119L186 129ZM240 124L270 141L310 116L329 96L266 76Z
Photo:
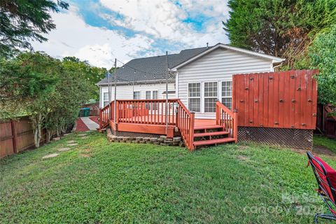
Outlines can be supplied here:
M113 25L143 31L155 38L182 42L189 47L205 45L206 42L228 42L221 23L228 18L227 1L182 0L181 7L170 0L100 1L103 6L123 15L123 20L110 18ZM202 14L214 19L205 30L195 31L190 24L183 22L188 14L193 17Z

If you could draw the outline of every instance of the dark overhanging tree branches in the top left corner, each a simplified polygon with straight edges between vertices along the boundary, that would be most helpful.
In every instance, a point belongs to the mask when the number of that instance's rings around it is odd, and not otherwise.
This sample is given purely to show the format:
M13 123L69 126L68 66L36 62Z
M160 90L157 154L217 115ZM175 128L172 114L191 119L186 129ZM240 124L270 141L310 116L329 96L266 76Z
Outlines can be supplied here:
M1 0L0 57L13 55L18 48L31 48L31 40L47 41L43 34L56 27L50 12L68 7L60 0Z

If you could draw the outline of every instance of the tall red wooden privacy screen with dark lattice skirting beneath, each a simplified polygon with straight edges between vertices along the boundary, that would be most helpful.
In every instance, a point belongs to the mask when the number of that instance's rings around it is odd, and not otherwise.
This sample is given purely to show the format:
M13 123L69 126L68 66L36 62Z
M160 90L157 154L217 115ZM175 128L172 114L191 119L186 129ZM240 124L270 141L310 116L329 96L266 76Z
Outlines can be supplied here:
M300 70L234 75L233 108L238 111L239 139L311 148L317 106L313 77L317 73Z

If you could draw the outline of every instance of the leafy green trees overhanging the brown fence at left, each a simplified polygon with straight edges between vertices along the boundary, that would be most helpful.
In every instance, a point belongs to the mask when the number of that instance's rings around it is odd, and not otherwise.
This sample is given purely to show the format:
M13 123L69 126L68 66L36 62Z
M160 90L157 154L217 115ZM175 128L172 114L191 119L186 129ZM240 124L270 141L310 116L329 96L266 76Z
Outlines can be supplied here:
M73 124L80 106L97 98L95 83L105 72L68 57L63 61L41 52L22 52L0 60L0 118L29 115L38 147L41 129L47 140Z

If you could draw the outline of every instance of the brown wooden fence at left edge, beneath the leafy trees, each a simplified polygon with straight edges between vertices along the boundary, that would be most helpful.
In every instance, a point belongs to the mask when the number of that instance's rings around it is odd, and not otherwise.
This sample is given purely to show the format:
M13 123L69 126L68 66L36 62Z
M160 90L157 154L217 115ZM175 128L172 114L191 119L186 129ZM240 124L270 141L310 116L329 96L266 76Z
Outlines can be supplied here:
M34 133L28 117L0 121L0 158L20 153L28 148L34 148Z

